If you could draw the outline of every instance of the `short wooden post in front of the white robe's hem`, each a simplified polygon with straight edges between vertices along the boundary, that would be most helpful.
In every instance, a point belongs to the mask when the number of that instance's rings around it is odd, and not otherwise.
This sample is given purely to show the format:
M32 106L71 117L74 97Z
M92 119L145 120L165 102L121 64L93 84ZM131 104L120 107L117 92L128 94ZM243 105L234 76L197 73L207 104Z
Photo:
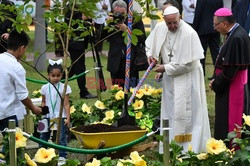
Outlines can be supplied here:
M169 119L162 120L163 133L163 163L164 166L169 166Z

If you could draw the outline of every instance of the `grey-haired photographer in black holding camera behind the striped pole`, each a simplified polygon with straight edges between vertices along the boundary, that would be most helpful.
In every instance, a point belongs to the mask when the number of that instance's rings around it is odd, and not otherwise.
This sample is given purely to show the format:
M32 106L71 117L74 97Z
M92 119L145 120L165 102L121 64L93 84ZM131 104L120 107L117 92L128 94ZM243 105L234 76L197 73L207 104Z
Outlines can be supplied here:
M124 42L123 32L127 30L127 4L123 0L117 0L112 4L113 14L109 16L107 22L109 26L114 27L113 30L105 30L102 33L102 38L108 37L109 52L108 52L108 67L107 70L110 72L112 84L118 84L124 87L125 80L125 66L126 66L126 43ZM134 20L134 19L133 19ZM144 44L146 35L142 20L133 22L132 29L139 29L143 32L138 37L137 45ZM114 31L117 31L114 33ZM135 60L135 47L131 47L130 55L130 86L135 87L139 78L139 71L134 65Z

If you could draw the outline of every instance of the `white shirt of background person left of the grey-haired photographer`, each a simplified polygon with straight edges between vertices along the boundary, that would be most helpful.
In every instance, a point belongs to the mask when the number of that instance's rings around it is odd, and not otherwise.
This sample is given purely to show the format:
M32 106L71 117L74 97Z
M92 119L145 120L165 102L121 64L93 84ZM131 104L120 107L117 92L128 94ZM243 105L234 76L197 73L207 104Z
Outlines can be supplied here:
M108 6L107 10L102 9L103 4L106 4ZM93 20L97 24L104 24L107 17L108 17L108 13L111 10L109 0L100 0L99 2L96 3L96 8L98 10L95 11L95 16L96 17L93 18Z

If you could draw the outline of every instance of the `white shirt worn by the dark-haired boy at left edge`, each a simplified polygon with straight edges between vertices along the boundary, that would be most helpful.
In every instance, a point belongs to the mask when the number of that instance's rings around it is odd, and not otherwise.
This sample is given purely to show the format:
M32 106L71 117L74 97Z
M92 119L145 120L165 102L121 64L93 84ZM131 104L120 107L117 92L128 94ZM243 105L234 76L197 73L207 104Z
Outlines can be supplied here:
M13 55L0 54L0 120L24 109L20 101L28 97L25 75L23 66Z

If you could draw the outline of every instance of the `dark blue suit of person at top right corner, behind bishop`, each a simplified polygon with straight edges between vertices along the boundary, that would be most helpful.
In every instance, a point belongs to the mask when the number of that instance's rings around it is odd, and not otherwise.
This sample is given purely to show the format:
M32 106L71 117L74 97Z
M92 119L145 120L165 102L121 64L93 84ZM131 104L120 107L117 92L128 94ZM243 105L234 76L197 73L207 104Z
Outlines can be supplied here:
M236 21L247 31L250 36L250 0L238 0L233 9Z

